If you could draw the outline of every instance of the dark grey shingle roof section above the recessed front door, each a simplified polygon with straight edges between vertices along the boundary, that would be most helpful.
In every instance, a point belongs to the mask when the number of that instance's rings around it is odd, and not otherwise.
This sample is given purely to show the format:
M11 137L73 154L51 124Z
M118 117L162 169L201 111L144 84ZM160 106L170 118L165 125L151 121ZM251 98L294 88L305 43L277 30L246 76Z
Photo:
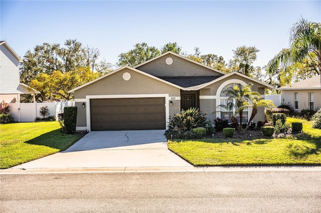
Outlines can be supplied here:
M158 76L157 76L158 77ZM212 76L176 76L176 77L158 77L168 82L174 83L182 87L191 87L200 85L203 83L210 82L216 78L221 77L221 75L212 75Z

